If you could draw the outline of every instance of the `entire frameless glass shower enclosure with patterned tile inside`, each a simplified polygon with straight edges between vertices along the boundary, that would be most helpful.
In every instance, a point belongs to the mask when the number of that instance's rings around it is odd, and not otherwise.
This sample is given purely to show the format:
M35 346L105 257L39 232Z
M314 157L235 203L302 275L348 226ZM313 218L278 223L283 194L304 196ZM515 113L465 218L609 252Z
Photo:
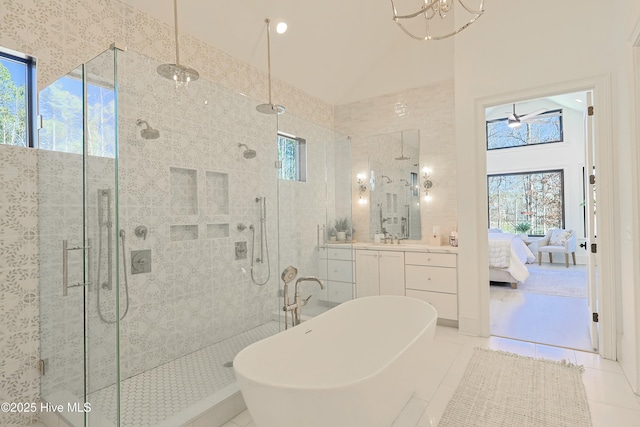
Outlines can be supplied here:
M112 47L39 94L41 397L73 426L178 426L238 393L235 354L284 329L280 272L330 278L351 216L346 137L158 65ZM278 179L282 132L306 181ZM351 281L305 284L303 313Z

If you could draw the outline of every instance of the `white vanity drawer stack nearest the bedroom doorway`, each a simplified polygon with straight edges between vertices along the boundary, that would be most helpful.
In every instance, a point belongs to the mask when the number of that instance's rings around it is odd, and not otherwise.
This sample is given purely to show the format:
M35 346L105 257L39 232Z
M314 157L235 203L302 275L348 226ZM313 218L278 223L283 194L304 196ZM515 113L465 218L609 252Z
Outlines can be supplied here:
M407 252L405 275L407 296L433 305L438 318L458 320L457 255Z

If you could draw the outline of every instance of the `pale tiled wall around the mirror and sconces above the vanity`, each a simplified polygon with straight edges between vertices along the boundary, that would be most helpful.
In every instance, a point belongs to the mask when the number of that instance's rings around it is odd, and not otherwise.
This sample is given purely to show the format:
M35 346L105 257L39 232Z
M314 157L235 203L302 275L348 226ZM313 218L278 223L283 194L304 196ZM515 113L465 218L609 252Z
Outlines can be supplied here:
M456 153L453 81L424 86L335 107L335 128L353 141L353 179L369 167L369 136L406 129L420 131L420 168L433 170L433 201L421 202L422 240L428 242L434 226L439 226L443 244L456 229ZM369 229L371 204L358 205L353 194L353 221L356 229ZM362 225L361 225L362 224ZM358 240L365 235L356 234Z

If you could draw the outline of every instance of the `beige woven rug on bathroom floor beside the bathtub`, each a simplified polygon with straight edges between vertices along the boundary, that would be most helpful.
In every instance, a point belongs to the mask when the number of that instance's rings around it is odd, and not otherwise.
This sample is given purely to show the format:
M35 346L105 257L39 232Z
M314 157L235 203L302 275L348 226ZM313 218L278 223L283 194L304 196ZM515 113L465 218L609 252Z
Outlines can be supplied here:
M590 427L582 371L476 349L438 427Z

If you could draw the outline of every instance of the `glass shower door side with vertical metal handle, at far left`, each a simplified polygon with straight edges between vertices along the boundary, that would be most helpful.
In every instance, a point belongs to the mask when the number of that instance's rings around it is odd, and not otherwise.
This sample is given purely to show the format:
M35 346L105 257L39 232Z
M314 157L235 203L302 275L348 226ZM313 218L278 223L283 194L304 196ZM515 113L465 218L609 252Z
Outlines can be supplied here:
M56 408L43 419L60 416L72 426L117 421L116 393L109 402L94 404L89 397L117 384L117 325L95 320L101 260L96 188L116 194L114 55L106 51L39 93L40 383L43 402ZM102 223L115 220L116 204L110 209ZM114 251L117 234L104 239ZM102 270L113 279L112 293L116 268ZM117 299L104 299L116 306Z

